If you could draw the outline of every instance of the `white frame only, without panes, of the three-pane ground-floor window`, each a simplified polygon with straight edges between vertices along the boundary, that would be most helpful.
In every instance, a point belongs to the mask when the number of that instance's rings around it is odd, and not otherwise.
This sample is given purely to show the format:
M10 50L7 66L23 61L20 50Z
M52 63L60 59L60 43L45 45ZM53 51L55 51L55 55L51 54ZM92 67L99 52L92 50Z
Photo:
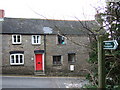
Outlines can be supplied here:
M16 63L16 56L18 55L18 63ZM22 63L20 63L20 55L22 55ZM14 63L12 63L12 56L14 56ZM10 54L10 65L24 65L24 54Z

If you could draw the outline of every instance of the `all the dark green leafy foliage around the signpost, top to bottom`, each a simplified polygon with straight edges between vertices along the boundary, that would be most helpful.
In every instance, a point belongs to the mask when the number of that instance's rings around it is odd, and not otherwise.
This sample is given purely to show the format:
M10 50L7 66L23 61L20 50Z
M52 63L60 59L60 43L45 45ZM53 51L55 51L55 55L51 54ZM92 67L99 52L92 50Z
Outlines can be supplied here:
M102 18L104 17L104 18ZM104 13L98 13L96 20L102 26L103 22L106 24L106 31L104 33L104 40L116 39L119 46L116 50L105 50L105 70L106 70L106 88L114 88L120 90L120 1L110 2L106 7ZM98 34L100 34L99 31ZM108 38L111 36L111 38ZM91 43L91 53L88 62L91 63L93 69L91 73L86 76L92 82L92 85L86 88L95 88L95 83L98 83L97 76L97 41ZM92 74L92 75L91 75ZM92 76L92 77L91 77ZM97 88L97 87L96 87Z

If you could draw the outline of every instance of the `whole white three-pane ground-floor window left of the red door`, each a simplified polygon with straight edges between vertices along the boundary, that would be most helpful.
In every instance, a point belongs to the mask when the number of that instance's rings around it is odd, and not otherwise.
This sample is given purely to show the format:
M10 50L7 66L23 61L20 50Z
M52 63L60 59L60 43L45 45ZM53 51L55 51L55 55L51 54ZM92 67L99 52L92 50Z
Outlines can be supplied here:
M23 65L24 55L23 54L11 54L10 55L10 65Z

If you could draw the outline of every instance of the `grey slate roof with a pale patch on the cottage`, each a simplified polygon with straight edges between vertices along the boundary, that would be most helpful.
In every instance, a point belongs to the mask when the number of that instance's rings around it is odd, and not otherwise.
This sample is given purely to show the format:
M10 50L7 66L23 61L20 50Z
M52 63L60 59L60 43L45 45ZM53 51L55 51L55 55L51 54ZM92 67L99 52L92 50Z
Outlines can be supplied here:
M88 21L93 27L95 21ZM85 21L82 23L86 24ZM4 18L2 34L85 34L87 30L79 21Z

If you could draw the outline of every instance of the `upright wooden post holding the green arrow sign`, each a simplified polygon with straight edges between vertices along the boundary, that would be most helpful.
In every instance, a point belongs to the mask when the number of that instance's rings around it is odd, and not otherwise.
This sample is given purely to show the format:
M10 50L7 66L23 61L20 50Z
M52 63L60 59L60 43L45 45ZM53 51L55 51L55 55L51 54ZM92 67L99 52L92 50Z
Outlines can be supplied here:
M103 49L103 36L98 36L98 87L105 88L105 60Z

